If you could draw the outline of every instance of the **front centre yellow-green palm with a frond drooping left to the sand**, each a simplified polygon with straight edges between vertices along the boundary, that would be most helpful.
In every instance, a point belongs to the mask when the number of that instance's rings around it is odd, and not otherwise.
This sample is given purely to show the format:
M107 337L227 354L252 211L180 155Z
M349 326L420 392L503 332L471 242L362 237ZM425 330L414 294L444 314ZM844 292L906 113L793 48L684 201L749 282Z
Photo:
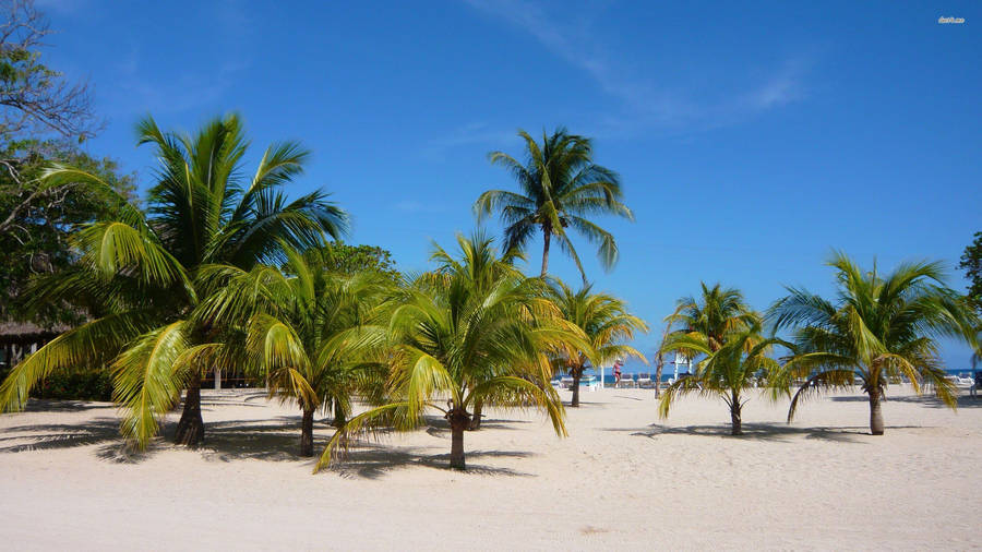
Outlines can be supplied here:
M532 405L549 415L556 434L566 434L562 401L546 385L549 361L543 351L563 339L577 340L575 334L542 297L540 279L477 269L475 260L493 259L490 239L477 235L458 241L460 257L418 278L396 301L388 326L388 403L348 420L327 443L316 469L354 436L381 428L418 428L428 409L450 422L450 466L464 469L464 432L478 401ZM441 250L436 255L450 256ZM492 264L500 265L498 261ZM488 279L475 278L489 273Z

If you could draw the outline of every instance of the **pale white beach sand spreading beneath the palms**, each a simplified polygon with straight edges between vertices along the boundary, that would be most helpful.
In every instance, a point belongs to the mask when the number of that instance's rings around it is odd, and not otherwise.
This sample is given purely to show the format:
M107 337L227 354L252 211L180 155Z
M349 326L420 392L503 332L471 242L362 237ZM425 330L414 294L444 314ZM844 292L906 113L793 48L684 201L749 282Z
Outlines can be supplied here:
M893 388L894 394L900 389ZM568 393L566 393L568 398ZM311 476L299 416L206 396L207 444L120 454L104 404L0 416L9 550L969 549L982 545L982 399L958 412L891 396L886 435L863 396L754 398L747 435L722 403L659 421L650 391L585 393L560 440L540 416L490 412L444 469L442 424ZM176 416L173 417L176 418ZM169 432L172 431L172 420ZM331 434L323 424L318 445Z

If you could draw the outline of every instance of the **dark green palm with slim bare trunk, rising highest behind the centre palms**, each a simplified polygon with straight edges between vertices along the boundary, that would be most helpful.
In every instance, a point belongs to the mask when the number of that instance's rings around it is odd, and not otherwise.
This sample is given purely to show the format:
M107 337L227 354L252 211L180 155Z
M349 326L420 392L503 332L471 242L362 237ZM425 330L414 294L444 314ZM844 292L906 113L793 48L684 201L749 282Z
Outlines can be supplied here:
M570 134L560 128L552 135L542 133L541 145L527 132L526 161L519 163L503 152L492 152L492 164L501 165L518 181L519 192L490 190L480 195L474 211L480 221L498 212L505 226L505 250L524 250L539 230L542 232L542 273L549 269L549 245L555 236L560 248L576 262L586 284L586 273L579 255L566 235L572 227L590 242L597 243L600 263L610 269L618 261L618 245L613 236L589 219L592 215L618 215L634 220L634 215L621 203L623 193L616 172L594 164L594 148L589 139Z

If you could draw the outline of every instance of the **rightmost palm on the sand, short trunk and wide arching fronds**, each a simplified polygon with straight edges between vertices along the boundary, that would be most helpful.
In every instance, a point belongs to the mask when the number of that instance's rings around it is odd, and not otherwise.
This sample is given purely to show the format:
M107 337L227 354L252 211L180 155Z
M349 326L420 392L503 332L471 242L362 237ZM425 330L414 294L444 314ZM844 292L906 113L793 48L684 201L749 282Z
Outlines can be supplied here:
M919 394L922 382L931 383L937 397L955 408L955 388L945 379L935 338L950 336L978 347L973 328L979 319L944 285L941 264L905 263L881 276L875 266L863 272L837 252L828 265L836 269L835 301L788 288L768 313L777 329L794 331L782 377L790 382L811 374L791 399L788 421L803 397L821 387L850 386L854 377L870 396L874 435L884 432L881 399L890 379L908 377Z

